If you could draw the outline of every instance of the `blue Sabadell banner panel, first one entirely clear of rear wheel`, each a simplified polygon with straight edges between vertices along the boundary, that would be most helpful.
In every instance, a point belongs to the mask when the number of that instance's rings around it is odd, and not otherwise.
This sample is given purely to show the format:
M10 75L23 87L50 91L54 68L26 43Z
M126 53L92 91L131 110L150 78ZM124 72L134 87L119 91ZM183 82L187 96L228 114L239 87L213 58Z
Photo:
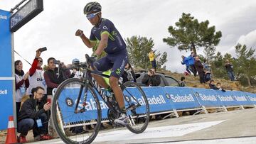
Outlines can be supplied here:
M188 87L165 87L166 94L169 94L169 102L174 109L191 109L200 107L196 96Z

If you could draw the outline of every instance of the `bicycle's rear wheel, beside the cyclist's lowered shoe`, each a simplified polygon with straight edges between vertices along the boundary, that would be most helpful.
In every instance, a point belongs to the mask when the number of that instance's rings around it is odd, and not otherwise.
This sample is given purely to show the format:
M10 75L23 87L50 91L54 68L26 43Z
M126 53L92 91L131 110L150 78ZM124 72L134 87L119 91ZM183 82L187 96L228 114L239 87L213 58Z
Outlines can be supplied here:
M124 101L129 116L127 128L132 133L142 133L149 124L149 103L142 88L135 82L124 83Z

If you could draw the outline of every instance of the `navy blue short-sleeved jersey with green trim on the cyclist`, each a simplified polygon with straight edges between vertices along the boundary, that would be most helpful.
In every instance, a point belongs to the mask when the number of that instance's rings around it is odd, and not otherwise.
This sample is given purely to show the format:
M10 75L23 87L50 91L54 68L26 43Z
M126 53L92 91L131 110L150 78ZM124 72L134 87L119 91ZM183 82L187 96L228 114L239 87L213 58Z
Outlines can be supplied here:
M107 48L104 49L107 54L113 54L126 49L126 44L120 33L117 31L117 28L114 27L114 23L106 18L101 18L100 23L92 28L90 40L101 40L101 35L103 33L109 35Z

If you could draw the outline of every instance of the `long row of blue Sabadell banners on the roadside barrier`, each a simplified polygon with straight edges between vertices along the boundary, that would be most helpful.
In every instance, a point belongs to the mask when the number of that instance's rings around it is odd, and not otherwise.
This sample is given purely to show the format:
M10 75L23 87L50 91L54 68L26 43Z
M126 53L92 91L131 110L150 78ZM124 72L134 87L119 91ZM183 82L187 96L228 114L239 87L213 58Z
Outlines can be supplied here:
M129 89L129 88L128 88ZM188 87L142 87L147 99L149 101L149 109L151 115L155 113L172 112L172 111L186 111L188 109L208 109L208 108L225 108L230 106L252 106L256 107L256 94L239 91L222 92L213 89L199 89ZM65 99L73 99L69 91L62 92L60 101ZM72 93L78 94L79 89L74 88ZM142 96L136 95L140 104L144 104ZM100 106L102 109L102 119L107 119L107 105L100 99ZM73 107L65 103L60 104L60 111L65 117L65 124L75 123L78 121L90 121L97 116L95 101L92 101L92 96L88 93L85 109L87 113L79 113L73 115ZM80 102L81 103L81 102ZM81 108L81 107L80 107ZM70 118L67 118L70 117Z

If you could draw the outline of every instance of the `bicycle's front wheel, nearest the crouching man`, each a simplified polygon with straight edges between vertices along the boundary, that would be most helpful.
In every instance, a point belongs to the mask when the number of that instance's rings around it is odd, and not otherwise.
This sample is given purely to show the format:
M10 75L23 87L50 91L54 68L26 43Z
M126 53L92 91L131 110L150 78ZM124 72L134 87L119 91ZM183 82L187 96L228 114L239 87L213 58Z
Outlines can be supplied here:
M80 79L67 79L62 82L53 96L51 115L53 126L64 143L92 143L100 131L101 109L100 101L90 84L87 87ZM80 101L78 96L81 94ZM78 111L75 112L75 104ZM84 106L85 105L85 109ZM87 125L95 128L85 130Z

